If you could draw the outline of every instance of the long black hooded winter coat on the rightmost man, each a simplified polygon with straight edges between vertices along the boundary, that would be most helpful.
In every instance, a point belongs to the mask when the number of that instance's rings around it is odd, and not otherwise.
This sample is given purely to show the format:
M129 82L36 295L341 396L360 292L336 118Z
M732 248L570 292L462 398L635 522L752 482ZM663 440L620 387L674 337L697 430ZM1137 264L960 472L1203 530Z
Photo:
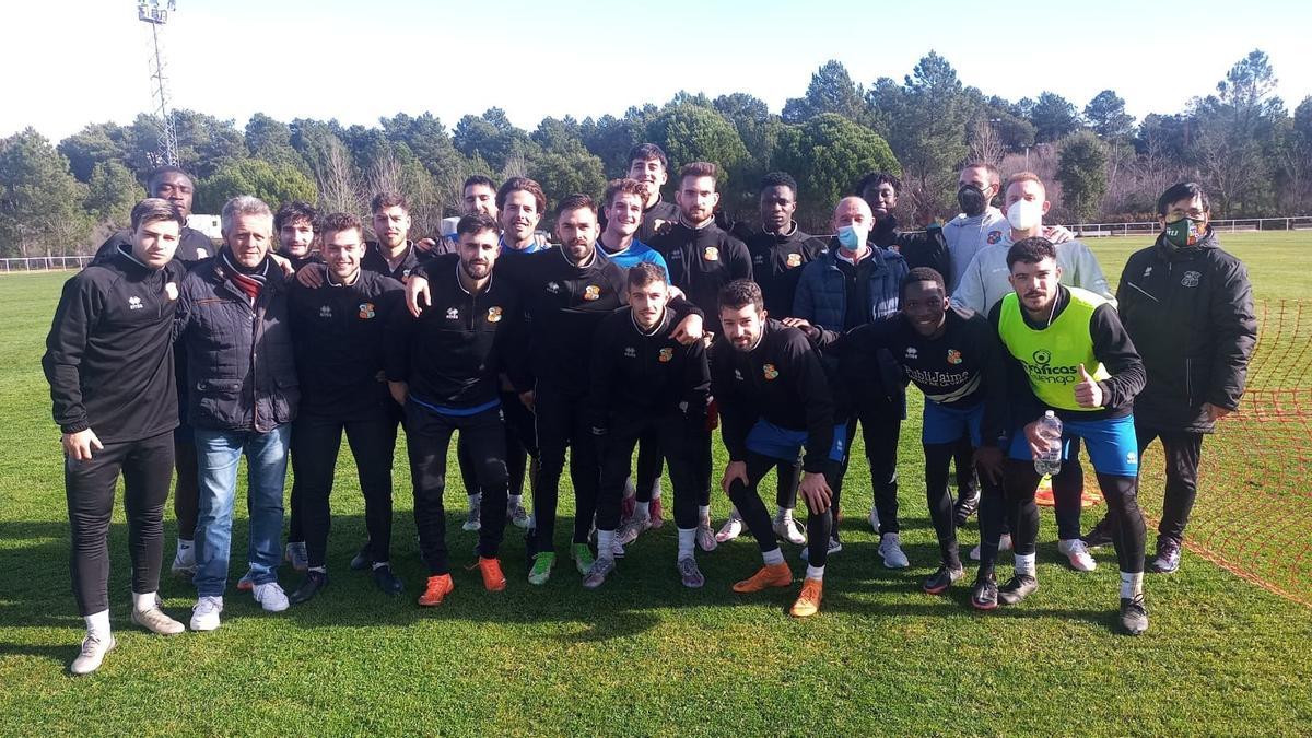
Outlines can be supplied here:
M1117 303L1148 370L1135 422L1207 433L1212 422L1203 403L1239 407L1257 344L1253 286L1215 231L1186 248L1158 236L1131 255Z

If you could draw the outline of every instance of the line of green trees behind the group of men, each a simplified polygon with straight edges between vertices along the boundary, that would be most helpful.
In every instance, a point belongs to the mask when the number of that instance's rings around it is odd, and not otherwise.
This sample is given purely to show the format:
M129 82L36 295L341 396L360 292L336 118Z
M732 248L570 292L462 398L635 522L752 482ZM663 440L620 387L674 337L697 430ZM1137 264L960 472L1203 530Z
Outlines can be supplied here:
M779 114L743 92L680 92L622 117L548 117L533 131L500 108L467 114L451 130L429 113L398 113L378 126L256 113L237 127L177 110L174 123L181 164L197 177L197 213L216 213L235 194L358 213L374 192L390 189L409 198L422 234L458 213L470 175L531 176L552 202L573 192L598 196L642 142L661 146L672 171L694 160L719 164L722 207L733 217L756 218L762 175L791 173L798 221L819 231L832 204L870 171L901 177L904 222L951 217L956 171L967 160L1038 173L1048 183L1054 222L1148 219L1156 197L1186 179L1208 189L1218 218L1307 214L1312 96L1290 114L1275 83L1267 55L1254 50L1211 95L1136 121L1113 89L1082 108L1055 92L1015 102L987 96L930 51L901 81L880 77L869 87L830 60ZM146 173L160 163L157 142L144 113L126 126L89 123L58 144L30 127L0 139L0 256L93 248L144 197Z

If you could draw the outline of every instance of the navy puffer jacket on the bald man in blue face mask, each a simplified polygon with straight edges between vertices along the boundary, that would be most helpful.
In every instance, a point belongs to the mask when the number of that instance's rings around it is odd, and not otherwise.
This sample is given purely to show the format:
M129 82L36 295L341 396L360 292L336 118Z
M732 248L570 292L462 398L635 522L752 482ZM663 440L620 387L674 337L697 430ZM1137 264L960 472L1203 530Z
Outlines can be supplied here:
M869 256L870 271L866 272L870 302L859 307L865 311L859 320L862 324L897 313L901 305L901 280L908 272L907 260L896 251L876 246L871 246L871 250L874 253ZM838 269L837 253L838 240L829 239L829 251L802 268L798 292L792 298L792 316L841 334L848 324L848 288L844 284L842 272ZM828 365L830 357L825 357L825 362ZM901 365L893 361L887 351L878 353L878 366L863 368L861 373L875 376L879 381L857 382L846 387L848 397L844 399L854 403L858 411L862 407L880 408L887 403L892 406L892 412L905 418L907 381ZM827 369L833 368L827 366ZM846 385L846 382L844 383ZM883 410L878 411L883 412Z

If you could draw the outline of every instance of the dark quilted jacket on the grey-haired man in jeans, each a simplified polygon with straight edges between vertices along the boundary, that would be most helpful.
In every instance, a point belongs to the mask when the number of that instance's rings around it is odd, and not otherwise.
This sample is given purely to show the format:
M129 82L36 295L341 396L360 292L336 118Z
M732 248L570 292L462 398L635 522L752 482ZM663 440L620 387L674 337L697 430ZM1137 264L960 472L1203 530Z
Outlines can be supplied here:
M192 427L265 433L291 423L300 386L287 323L287 284L276 264L252 306L219 257L182 280L173 323L186 347Z

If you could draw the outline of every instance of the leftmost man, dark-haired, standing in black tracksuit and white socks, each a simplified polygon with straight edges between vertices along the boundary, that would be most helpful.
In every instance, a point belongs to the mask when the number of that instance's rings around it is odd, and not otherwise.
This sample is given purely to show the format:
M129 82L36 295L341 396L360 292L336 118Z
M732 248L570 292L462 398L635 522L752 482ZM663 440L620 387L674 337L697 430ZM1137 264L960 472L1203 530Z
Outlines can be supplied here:
M109 520L123 477L133 558L133 622L160 634L182 624L159 607L164 503L173 475L177 387L173 313L185 269L173 260L182 213L160 198L133 207L131 242L64 284L41 360L63 432L72 580L87 622L72 674L100 668L109 625Z

